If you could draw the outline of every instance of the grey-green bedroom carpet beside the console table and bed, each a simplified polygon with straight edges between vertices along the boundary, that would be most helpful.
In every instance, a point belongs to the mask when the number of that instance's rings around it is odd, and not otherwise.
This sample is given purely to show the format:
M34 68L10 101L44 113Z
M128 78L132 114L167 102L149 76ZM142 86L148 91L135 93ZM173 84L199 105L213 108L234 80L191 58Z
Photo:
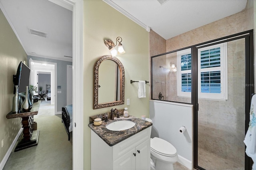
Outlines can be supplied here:
M34 121L39 130L38 145L13 150L4 170L72 170L72 135L68 141L61 115L38 117Z

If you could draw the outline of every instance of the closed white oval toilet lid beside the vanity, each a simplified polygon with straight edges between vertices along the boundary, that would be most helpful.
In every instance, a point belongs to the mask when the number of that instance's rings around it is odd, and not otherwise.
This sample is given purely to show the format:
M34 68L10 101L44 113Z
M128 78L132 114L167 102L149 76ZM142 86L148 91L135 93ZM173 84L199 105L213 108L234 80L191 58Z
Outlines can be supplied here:
M177 153L176 148L172 146L172 144L157 137L151 138L150 148L154 152L163 156L174 156Z

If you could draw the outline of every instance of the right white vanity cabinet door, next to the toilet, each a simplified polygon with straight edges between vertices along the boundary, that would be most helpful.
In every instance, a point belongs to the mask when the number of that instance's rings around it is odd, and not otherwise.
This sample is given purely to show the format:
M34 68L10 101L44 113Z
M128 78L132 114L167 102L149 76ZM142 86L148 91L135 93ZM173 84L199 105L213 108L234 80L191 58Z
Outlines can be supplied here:
M150 170L150 140L136 146L136 170Z

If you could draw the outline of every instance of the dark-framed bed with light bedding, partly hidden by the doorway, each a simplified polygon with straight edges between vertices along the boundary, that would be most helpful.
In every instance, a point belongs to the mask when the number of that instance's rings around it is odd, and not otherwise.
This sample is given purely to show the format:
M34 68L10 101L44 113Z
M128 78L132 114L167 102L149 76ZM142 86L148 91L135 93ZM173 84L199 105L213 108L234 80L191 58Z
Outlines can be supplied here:
M68 133L68 140L70 140L70 132L72 131L72 105L62 107L62 123ZM71 126L71 127L70 127Z

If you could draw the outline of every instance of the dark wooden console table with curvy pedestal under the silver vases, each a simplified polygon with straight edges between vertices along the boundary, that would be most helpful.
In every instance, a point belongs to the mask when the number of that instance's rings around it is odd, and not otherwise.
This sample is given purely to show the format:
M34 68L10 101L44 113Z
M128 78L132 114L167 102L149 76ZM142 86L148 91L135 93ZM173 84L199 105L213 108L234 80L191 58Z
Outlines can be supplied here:
M23 131L22 134L20 134L20 137L18 138L18 144L14 150L14 152L30 148L32 146L36 146L38 144L38 136L39 136L39 130L32 130L33 128L33 122L34 122L34 115L38 114L38 109L40 106L41 101L38 101L36 103L33 103L32 109L30 112L21 112L21 113L8 113L6 115L7 119L13 119L13 118L22 118L22 127Z

